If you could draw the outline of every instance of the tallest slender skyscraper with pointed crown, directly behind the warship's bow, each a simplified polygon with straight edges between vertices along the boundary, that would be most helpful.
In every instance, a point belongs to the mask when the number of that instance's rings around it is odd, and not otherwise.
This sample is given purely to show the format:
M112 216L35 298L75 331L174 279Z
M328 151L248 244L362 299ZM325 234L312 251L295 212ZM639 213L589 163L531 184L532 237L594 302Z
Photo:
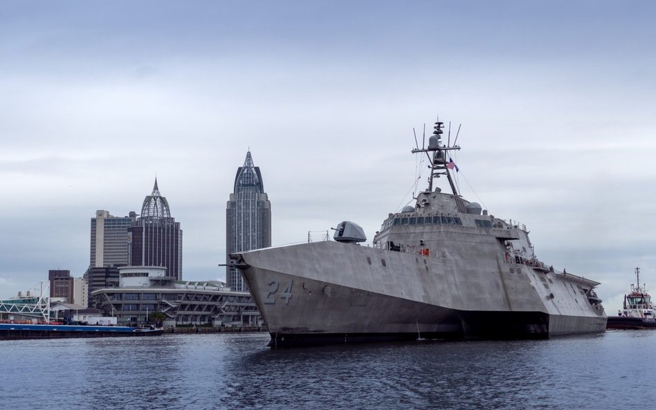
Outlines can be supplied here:
M227 254L271 246L271 202L264 192L262 174L253 165L250 151L246 153L244 166L237 169L235 187L230 194L226 209ZM226 254L226 263L230 259ZM248 286L237 268L226 269L226 283L237 292Z

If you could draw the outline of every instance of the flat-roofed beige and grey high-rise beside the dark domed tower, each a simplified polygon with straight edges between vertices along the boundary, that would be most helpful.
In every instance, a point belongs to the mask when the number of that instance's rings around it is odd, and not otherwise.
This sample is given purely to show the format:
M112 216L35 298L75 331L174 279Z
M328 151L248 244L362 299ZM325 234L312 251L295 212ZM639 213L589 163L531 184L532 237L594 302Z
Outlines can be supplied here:
M90 268L127 264L127 233L135 218L134 212L129 216L112 216L102 209L95 212L91 218Z

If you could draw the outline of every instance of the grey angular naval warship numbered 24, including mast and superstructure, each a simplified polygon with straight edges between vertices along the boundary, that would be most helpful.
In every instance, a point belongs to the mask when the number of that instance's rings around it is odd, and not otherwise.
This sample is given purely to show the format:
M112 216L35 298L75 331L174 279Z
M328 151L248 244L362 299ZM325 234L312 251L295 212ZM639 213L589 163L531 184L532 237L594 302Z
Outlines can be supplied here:
M270 346L398 339L546 339L603 332L598 282L554 270L525 225L489 214L456 189L444 123L412 153L428 188L389 214L372 246L338 223L334 241L230 254L271 334ZM441 192L438 178L448 181ZM446 184L445 184L446 185Z

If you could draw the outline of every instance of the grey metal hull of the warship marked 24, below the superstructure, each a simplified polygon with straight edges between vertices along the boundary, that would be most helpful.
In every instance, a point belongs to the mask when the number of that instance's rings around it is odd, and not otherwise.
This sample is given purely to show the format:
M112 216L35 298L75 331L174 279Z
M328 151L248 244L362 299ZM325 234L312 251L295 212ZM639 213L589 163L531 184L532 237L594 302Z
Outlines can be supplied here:
M502 258L462 261L332 241L232 257L272 346L548 338L606 326L603 308L575 290L576 281Z

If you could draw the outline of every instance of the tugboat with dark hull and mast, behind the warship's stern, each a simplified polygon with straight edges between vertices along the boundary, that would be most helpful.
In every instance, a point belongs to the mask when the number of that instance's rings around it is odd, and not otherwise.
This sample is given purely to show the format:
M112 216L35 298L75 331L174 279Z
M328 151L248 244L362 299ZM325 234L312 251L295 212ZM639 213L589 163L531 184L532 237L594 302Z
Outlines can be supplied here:
M624 295L624 309L617 316L609 316L609 329L656 329L656 306L643 284L640 286L640 268L635 268L637 285L631 283L631 292Z

